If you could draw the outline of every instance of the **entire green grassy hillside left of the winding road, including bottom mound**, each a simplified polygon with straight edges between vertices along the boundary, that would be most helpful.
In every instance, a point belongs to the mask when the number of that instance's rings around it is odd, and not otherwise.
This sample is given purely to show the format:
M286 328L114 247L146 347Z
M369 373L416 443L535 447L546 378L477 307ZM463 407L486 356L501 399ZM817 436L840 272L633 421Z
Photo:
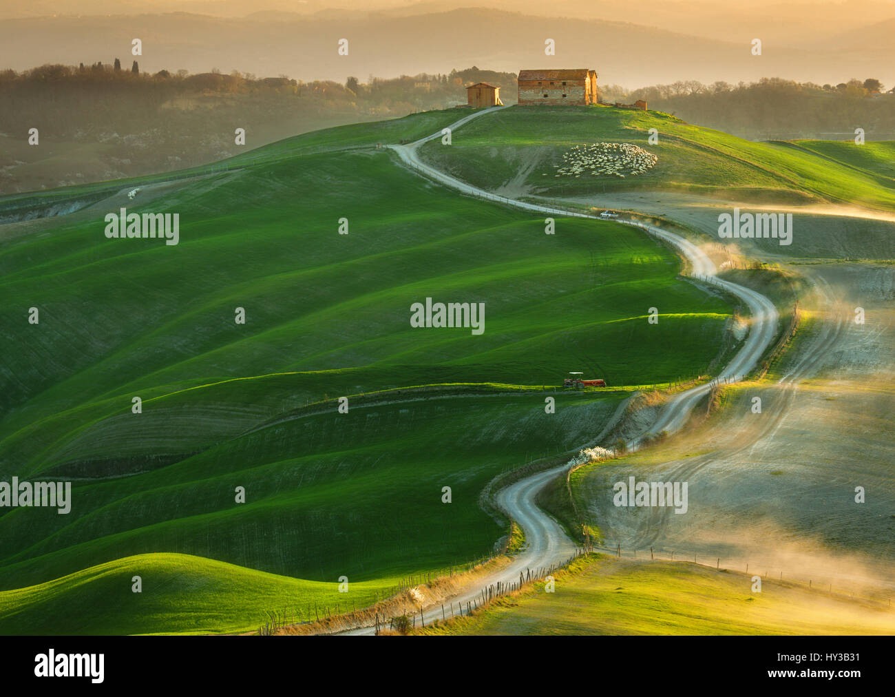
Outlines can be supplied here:
M16 347L0 357L0 479L71 478L73 498L68 515L0 515L0 632L48 632L53 607L81 608L54 632L251 630L262 606L323 602L341 575L369 600L492 549L506 530L479 507L490 478L575 452L635 385L717 357L729 305L652 239L580 219L547 236L375 147L456 117L308 133L158 189L9 203L108 195L0 238ZM107 239L121 206L178 212L180 244ZM484 333L412 328L426 297L484 302ZM546 415L544 386L569 370L626 389L560 391ZM151 616L132 612L137 567ZM154 574L174 580L149 598ZM245 584L258 598L234 600Z

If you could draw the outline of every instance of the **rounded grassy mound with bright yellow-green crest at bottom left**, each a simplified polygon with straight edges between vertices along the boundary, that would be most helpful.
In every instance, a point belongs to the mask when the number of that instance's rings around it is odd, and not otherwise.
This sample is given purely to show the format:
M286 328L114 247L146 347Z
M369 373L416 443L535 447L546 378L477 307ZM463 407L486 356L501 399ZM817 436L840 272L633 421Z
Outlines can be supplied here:
M140 593L132 579L141 577ZM366 596L369 588L355 590ZM375 596L373 596L375 597ZM336 583L299 581L188 555L138 555L0 592L4 634L217 633L257 630L275 609L345 603Z

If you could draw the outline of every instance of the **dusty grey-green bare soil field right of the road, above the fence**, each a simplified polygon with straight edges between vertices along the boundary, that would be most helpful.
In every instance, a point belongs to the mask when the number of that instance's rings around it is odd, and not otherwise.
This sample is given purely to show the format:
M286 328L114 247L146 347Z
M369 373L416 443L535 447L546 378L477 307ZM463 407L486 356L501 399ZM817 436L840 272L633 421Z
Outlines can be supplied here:
M729 390L703 426L592 471L578 495L610 546L881 594L895 589L895 267L800 267L814 320L770 379ZM855 308L865 324L855 323ZM762 413L753 413L753 398ZM626 508L612 485L688 483L689 507ZM865 503L856 503L856 487Z

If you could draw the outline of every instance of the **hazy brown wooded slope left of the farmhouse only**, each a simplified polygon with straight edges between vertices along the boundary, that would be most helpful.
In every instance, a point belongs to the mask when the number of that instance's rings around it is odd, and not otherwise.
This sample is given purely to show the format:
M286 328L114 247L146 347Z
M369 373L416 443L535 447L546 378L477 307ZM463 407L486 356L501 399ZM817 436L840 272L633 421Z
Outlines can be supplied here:
M205 164L291 135L465 104L465 84L515 84L470 68L366 83L251 73L143 73L120 60L0 71L0 194ZM41 147L27 144L31 128ZM45 148L43 146L49 146ZM45 159L47 154L55 156ZM42 162L41 162L42 160ZM40 163L40 164L38 164Z

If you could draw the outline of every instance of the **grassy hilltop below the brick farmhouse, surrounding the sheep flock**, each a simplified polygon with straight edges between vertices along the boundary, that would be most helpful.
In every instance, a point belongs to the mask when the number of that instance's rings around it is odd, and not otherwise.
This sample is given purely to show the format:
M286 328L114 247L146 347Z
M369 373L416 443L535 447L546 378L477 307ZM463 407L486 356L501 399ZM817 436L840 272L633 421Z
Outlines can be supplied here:
M651 145L653 128L659 142ZM633 143L659 160L644 174L624 179L556 176L564 152L593 142ZM672 191L754 202L848 202L891 211L891 142L816 143L751 142L654 111L563 107L545 113L512 107L464 126L450 146L426 143L422 153L473 185L494 190L515 182L530 195L548 198Z

